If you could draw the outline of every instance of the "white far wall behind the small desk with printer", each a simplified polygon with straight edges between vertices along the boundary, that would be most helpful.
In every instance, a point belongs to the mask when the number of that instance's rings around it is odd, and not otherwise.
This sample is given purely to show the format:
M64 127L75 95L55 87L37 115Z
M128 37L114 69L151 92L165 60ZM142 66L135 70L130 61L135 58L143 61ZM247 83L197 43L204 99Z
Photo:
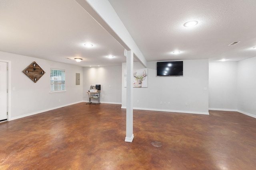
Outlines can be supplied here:
M90 86L100 84L100 102L121 104L122 102L122 66L84 67L83 100L88 102L86 93ZM97 99L92 99L97 102ZM92 101L93 102L93 101Z

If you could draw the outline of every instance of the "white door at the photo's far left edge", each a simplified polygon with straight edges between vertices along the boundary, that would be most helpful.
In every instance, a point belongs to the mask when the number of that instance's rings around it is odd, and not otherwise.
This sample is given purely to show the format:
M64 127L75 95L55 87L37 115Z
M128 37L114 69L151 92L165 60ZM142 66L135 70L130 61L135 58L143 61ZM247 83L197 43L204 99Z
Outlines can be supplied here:
M7 120L7 63L0 62L0 121Z

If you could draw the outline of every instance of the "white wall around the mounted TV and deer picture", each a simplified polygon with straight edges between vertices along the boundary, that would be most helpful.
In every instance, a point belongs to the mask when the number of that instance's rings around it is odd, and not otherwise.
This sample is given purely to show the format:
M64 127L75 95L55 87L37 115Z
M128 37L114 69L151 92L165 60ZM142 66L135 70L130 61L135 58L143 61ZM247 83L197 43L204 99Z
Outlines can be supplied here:
M148 62L147 65L148 88L134 88L135 109L208 114L208 90L204 90L204 88L208 89L207 59L183 61L183 76L177 77L156 76L156 62ZM135 70L140 68L143 68L140 63L134 63ZM123 77L125 72L126 63L123 63ZM188 103L188 106L185 106L185 103ZM122 108L125 107L126 88L123 78Z

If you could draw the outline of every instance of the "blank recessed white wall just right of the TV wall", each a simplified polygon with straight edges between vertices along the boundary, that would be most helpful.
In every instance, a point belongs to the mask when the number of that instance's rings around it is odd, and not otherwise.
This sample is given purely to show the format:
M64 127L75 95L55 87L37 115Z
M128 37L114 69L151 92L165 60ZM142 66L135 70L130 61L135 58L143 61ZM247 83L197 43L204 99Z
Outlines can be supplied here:
M238 62L209 63L209 109L237 110Z

